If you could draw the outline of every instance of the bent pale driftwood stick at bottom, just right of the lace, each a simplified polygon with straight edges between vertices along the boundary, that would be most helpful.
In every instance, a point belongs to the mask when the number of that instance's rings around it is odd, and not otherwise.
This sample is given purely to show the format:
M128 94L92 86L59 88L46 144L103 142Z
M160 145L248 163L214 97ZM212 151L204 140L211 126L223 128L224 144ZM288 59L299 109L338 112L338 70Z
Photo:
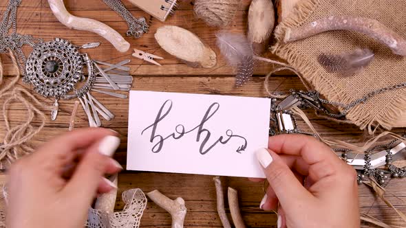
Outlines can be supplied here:
M186 207L183 198L178 197L173 201L158 190L147 193L147 196L151 198L151 201L171 214L172 228L183 227L184 217L186 216Z

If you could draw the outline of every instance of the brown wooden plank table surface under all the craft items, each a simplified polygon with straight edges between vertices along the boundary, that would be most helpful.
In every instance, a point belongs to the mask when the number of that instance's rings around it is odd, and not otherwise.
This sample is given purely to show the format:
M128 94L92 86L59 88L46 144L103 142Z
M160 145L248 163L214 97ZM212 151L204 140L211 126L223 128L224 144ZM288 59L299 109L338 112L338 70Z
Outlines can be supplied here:
M145 12L130 5L127 1L124 2L135 16L146 16L149 18ZM3 12L7 3L8 1L6 0L0 1L1 12ZM120 32L120 34L125 34L127 31L127 25L122 21L120 16L110 10L100 0L67 0L65 4L67 9L76 16L85 16L107 23L107 25L110 25ZM248 4L248 1L244 2L244 6L237 12L235 21L233 25L228 28L229 30L245 32ZM209 44L217 53L217 65L212 69L193 69L187 67L180 62L180 60L177 60L160 49L153 38L153 34L158 27L164 24L178 25L200 36L200 38ZM272 65L259 63L255 67L255 77L244 87L235 88L233 69L226 65L224 58L220 56L218 49L215 47L215 32L217 29L208 27L203 21L195 18L193 14L193 1L191 0L182 1L175 16L169 18L166 23L161 23L153 19L150 32L145 34L142 38L127 38L127 41L131 43L131 47L164 57L164 60L160 60L162 67L157 67L131 57L131 50L124 54L119 53L107 41L96 34L67 29L67 27L64 27L52 15L46 0L23 0L19 8L17 26L20 33L32 34L34 37L43 38L45 41L49 41L54 37L60 37L70 40L76 45L100 42L102 43L101 47L87 50L87 53L89 53L93 59L106 62L120 62L121 60L131 58L131 74L134 76L133 90L266 97L266 92L264 91L264 75L273 69ZM30 53L30 48L27 48L25 51L27 54ZM270 54L268 56L275 58L275 56ZM1 57L6 75L13 76L15 72L10 59L6 58L5 55ZM8 77L6 82L10 81L10 78L11 77ZM18 86L30 89L27 84L23 84L22 82L19 82ZM288 91L291 88L303 89L303 85L296 76L290 76L287 72L273 76L270 79L271 91ZM36 95L36 98L47 104L52 104L51 99L45 99L38 95ZM103 122L103 126L112 128L120 134L122 144L115 158L125 166L128 100L119 100L103 95L98 95L97 98L116 115L116 118L111 122ZM1 101L1 104L2 103L3 101ZM67 131L73 104L74 102L72 100L61 102L58 118L54 122L49 119L49 113L47 113L48 119L45 128L32 140L34 146L43 144L43 142L51 139L55 135ZM10 110L12 124L21 124L25 121L25 111L21 104L13 104L8 109ZM330 122L321 117L317 117L311 112L308 113L308 116L312 124L314 124L314 127L323 137L334 137L335 139L347 141L363 141L364 134L361 130L356 128L356 126ZM0 118L0 123L3 123L3 117ZM36 124L39 124L39 122L36 122ZM86 126L88 126L87 117L83 110L80 109L76 117L76 127L82 128ZM306 124L302 121L299 121L299 127L303 130L308 130ZM0 138L4 135L4 129L3 124L1 124ZM404 130L400 129L396 131L403 133ZM264 212L259 209L259 201L261 201L264 195L261 183L251 183L244 178L229 177L222 178L222 181L224 187L230 186L238 190L239 203L246 225L249 227L276 227L277 216L272 212ZM405 181L394 180L389 183L387 190L387 198L389 201L404 213L406 213L406 206L403 202L406 200L406 194L403 190L405 186ZM119 194L130 188L139 187L144 192L155 189L160 190L171 198L182 196L186 201L186 207L188 209L185 222L186 227L221 227L220 218L217 216L216 211L213 176L124 171L119 176L118 187ZM360 206L361 212L383 220L383 222L389 225L406 225L393 209L387 207L385 203L374 196L372 191L365 186L360 186ZM123 203L121 198L118 197L116 209L120 210L122 207ZM226 208L226 212L229 213L228 208ZM141 226L170 227L170 225L171 218L169 214L154 203L148 203L144 216L142 216ZM370 227L370 225L363 223L363 227Z

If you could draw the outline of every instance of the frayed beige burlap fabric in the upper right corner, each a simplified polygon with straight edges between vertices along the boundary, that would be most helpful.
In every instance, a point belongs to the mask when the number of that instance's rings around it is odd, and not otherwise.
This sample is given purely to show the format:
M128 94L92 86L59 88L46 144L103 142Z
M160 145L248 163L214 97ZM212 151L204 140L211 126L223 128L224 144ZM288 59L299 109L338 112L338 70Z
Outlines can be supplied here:
M272 50L295 67L303 78L330 101L349 104L370 91L406 82L406 58L392 54L385 45L358 32L332 31L284 44L286 28L326 16L348 15L376 19L406 38L405 0L302 0L275 30L277 44ZM341 54L368 47L376 54L367 69L350 78L328 73L319 65L321 53ZM376 95L352 109L347 119L370 133L376 126L405 126L406 89Z

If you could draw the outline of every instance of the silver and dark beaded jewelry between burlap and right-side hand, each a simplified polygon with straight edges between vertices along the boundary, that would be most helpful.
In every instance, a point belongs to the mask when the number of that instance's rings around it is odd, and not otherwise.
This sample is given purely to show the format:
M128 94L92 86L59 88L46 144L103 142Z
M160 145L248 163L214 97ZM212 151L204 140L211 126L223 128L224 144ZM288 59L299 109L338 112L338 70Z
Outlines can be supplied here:
M286 98L281 100L278 104L278 99L272 99L269 135L299 133L313 135L315 137L316 135L313 133L306 133L299 130L297 127L297 119L295 118L294 113L289 109L292 109L293 107L298 107L299 109L314 109L315 111L324 113L328 117L345 119L345 115L354 106L366 102L376 94L405 87L405 84L406 83L396 84L392 87L373 91L348 105L324 100L320 98L320 94L317 91L306 92L295 91L292 89L290 90L290 95L287 95ZM281 95L281 93L275 95ZM343 111L341 113L331 113L328 108L325 107L325 104L339 106ZM405 136L403 136L403 139L405 139ZM342 148L335 148L334 152L357 170L358 183L363 183L363 181L372 178L376 183L385 185L390 178L403 178L406 176L406 167L398 168L392 164L394 160L402 157L402 152L404 152L405 149L406 145L396 139L389 144L378 145L365 151L364 156ZM385 166L385 168L379 168L381 166Z

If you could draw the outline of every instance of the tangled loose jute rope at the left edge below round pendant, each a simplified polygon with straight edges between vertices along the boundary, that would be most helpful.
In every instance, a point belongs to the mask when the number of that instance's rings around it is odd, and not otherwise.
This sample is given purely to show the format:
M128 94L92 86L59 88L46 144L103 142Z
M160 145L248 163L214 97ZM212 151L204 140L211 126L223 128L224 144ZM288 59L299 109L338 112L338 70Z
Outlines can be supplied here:
M53 109L39 102L29 91L20 87L14 87L19 81L21 73L12 52L10 52L10 58L17 73L10 83L0 89L0 99L5 99L3 103L3 119L6 125L6 135L4 136L3 143L0 144L0 169L8 168L13 161L34 150L28 144L28 141L45 126L45 114L40 108L45 110ZM0 59L0 86L3 84L3 81L3 66ZM8 106L17 102L23 104L25 109L27 109L27 119L23 124L11 126ZM35 119L41 119L39 126L34 126Z

